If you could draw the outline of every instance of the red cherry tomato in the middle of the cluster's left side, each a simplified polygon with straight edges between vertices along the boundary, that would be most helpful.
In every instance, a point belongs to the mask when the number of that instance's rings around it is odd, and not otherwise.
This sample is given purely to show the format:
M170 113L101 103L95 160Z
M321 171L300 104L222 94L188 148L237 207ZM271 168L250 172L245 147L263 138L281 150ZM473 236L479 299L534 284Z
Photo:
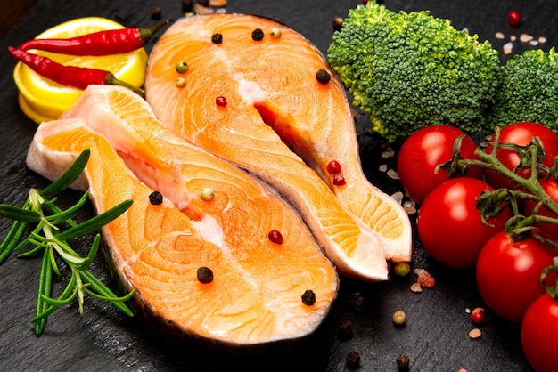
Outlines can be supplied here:
M454 269L473 269L480 249L511 217L509 209L482 222L476 198L493 190L486 182L468 177L450 179L432 190L419 209L417 226L424 249Z

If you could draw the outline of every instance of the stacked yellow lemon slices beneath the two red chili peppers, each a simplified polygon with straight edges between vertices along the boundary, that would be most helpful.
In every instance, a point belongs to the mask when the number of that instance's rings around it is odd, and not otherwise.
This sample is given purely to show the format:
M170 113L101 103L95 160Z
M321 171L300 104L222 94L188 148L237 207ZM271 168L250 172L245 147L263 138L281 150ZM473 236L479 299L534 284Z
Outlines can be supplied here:
M124 28L118 22L102 17L86 17L69 20L47 29L36 38L70 38L107 29ZM132 53L107 56L73 56L59 53L29 50L29 53L44 55L66 66L79 66L111 71L119 80L140 87L144 84L147 53L144 48ZM82 92L78 88L54 83L25 64L18 62L13 69L13 80L20 90L18 103L21 110L40 124L56 119L69 109Z

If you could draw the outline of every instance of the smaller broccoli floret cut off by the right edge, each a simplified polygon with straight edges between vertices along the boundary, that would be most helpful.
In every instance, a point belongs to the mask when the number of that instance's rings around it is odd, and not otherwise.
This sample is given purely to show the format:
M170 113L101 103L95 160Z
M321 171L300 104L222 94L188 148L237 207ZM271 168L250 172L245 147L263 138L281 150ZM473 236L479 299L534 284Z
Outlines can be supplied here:
M489 120L505 126L531 121L558 130L558 53L554 47L513 56L501 70L501 87Z

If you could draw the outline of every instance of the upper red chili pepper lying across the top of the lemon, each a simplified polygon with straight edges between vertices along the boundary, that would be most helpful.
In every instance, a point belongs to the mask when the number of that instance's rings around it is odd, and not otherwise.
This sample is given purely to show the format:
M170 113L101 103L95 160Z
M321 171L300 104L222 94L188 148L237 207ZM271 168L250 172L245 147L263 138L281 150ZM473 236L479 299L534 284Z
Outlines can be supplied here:
M68 39L33 39L21 44L19 49L97 56L130 53L143 47L168 22L169 20L165 20L153 28L110 29Z

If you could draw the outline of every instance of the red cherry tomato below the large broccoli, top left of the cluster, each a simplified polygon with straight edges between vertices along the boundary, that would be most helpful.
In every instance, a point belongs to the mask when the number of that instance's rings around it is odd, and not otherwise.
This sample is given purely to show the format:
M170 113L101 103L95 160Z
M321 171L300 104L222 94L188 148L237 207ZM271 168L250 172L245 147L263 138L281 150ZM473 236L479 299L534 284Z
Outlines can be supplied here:
M443 169L435 173L436 166L451 160L454 153L454 142L457 137L465 134L450 125L431 125L411 134L403 143L398 154L399 181L407 194L419 204L440 183L449 180L449 174ZM461 142L462 158L477 158L474 155L477 145L469 136ZM470 167L465 175L481 178L480 167Z

